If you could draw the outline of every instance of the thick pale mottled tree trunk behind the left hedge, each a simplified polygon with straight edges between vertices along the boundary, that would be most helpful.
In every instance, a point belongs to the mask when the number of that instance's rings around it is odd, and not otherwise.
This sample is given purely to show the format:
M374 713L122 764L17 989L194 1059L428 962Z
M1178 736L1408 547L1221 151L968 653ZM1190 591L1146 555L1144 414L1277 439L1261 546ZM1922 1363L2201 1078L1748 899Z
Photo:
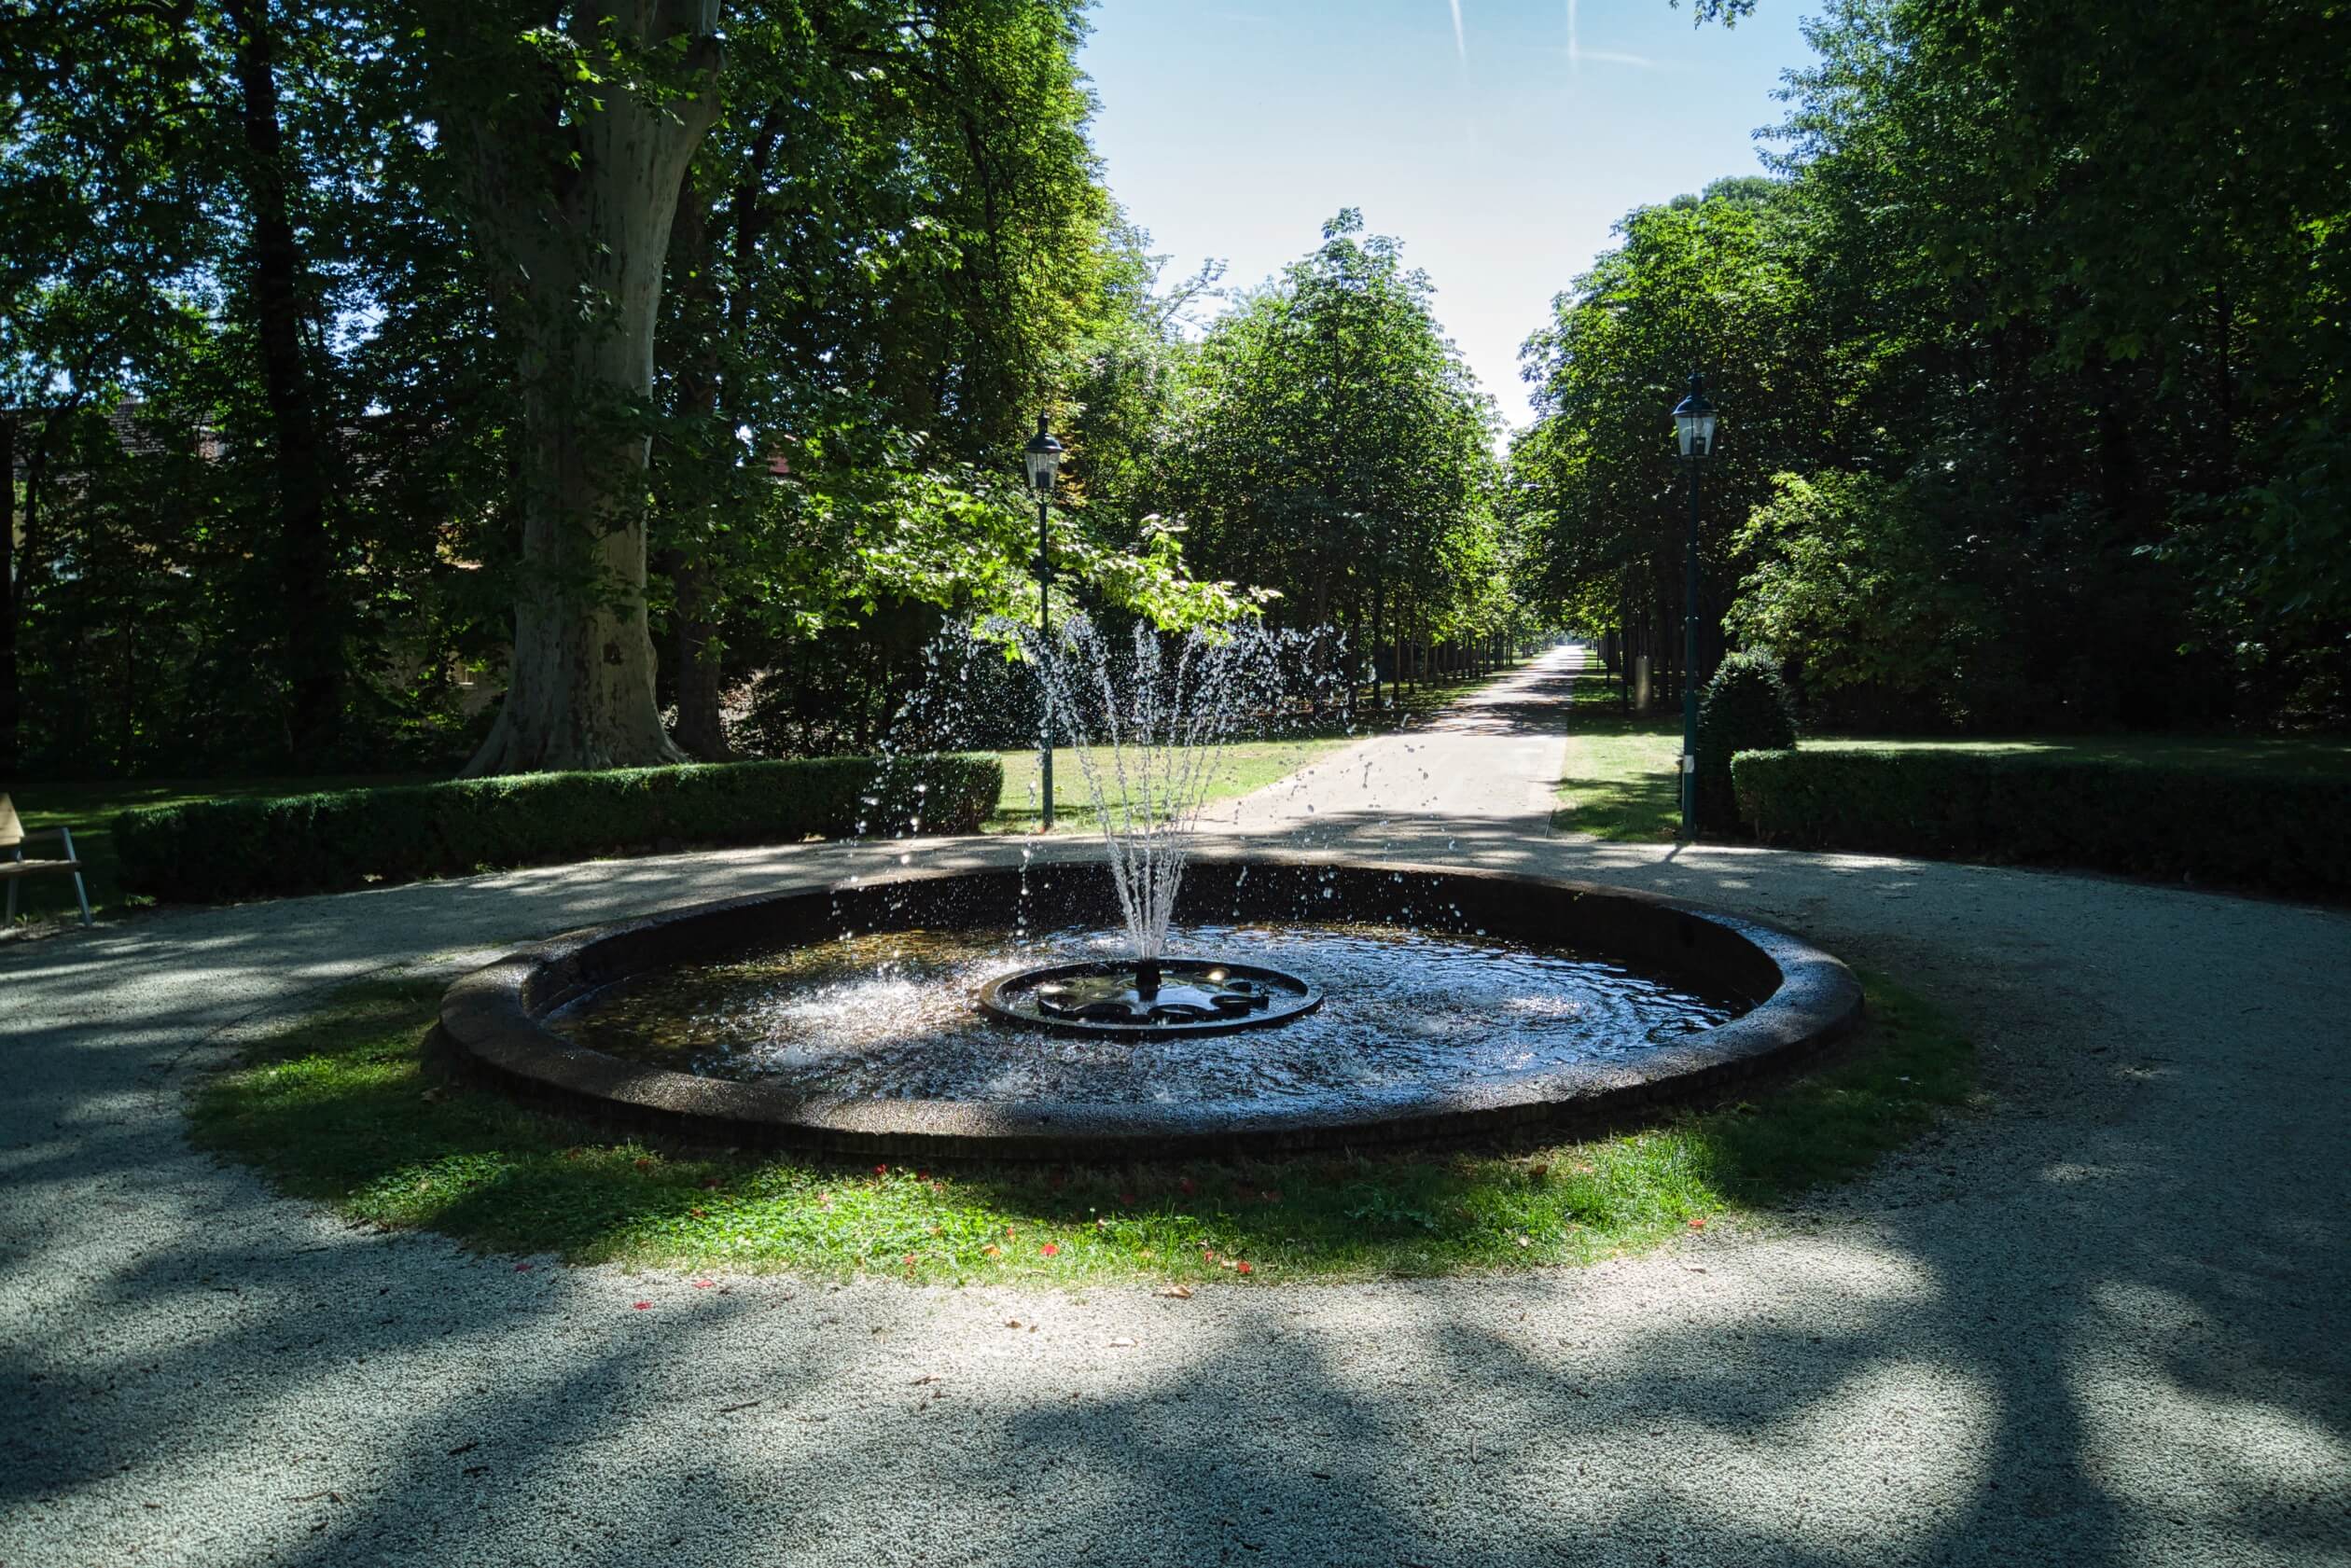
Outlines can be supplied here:
M475 230L513 280L501 306L522 350L524 414L515 665L473 776L684 759L654 701L644 411L677 188L719 110L717 5L595 12L576 19L590 47L607 33L628 47L691 33L694 96L614 80L567 122L550 115L534 146L482 113L463 148ZM552 99L557 85L543 87Z

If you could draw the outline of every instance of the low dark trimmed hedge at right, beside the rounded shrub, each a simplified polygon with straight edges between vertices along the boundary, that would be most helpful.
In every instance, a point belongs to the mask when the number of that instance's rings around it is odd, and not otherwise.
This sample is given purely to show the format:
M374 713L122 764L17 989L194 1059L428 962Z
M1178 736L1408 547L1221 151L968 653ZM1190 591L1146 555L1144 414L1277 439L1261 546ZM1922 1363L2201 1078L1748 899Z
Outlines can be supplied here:
M1803 748L1730 759L1766 844L2351 893L2351 778L2168 762Z

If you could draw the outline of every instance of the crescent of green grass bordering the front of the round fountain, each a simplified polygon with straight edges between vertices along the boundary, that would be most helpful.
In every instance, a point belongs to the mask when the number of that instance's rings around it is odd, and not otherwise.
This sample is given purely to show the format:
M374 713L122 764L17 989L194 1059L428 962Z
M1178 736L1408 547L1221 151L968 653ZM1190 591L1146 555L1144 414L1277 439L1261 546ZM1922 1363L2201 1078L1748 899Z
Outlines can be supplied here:
M522 1110L428 1053L440 983L376 983L195 1091L200 1147L362 1225L494 1253L912 1281L1357 1279L1589 1262L1850 1178L1968 1100L1951 1023L1883 976L1787 1088L1610 1138L1128 1168L710 1154Z

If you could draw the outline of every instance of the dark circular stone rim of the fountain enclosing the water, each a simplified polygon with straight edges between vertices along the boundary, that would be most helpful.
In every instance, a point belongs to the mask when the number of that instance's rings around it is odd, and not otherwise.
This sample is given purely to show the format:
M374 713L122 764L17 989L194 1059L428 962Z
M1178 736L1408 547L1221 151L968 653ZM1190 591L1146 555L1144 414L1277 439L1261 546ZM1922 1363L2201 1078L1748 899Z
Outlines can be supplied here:
M520 947L458 978L440 1006L440 1039L501 1086L562 1110L588 1110L628 1126L686 1135L696 1143L799 1147L891 1159L1161 1159L1267 1154L1305 1147L1422 1143L1498 1135L1526 1126L1599 1126L1641 1117L1660 1103L1721 1091L1801 1060L1841 1037L1862 1011L1862 987L1843 961L1794 931L1681 898L1531 872L1448 867L1413 860L1321 860L1312 856L1194 856L1199 872L1258 867L1347 879L1434 877L1467 889L1531 889L1566 900L1613 900L1679 926L1683 943L1704 929L1761 954L1780 973L1754 1009L1634 1063L1578 1063L1474 1086L1427 1088L1319 1105L1312 1110L1030 1100L877 1100L806 1095L773 1084L705 1079L628 1063L576 1046L541 1018L583 990L623 973L597 973L600 950L623 938L658 936L698 922L773 910L792 900L832 900L926 884L978 882L1018 867L915 870L846 877L773 893L663 910L637 919L569 931ZM1086 875L1077 860L1030 867ZM1502 936L1514 936L1502 931ZM583 978L585 971L585 978Z

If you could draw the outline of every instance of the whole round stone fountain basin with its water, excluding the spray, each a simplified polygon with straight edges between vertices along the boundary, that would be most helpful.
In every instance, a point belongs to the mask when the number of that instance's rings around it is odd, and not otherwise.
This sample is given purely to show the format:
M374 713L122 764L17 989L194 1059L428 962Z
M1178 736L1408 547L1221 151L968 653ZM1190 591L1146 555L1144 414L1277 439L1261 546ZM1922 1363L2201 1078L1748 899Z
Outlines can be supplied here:
M571 1110L722 1145L1147 1159L1606 1124L1843 1032L1796 936L1573 882L1192 860L1121 957L1086 863L675 910L458 980L442 1034Z

